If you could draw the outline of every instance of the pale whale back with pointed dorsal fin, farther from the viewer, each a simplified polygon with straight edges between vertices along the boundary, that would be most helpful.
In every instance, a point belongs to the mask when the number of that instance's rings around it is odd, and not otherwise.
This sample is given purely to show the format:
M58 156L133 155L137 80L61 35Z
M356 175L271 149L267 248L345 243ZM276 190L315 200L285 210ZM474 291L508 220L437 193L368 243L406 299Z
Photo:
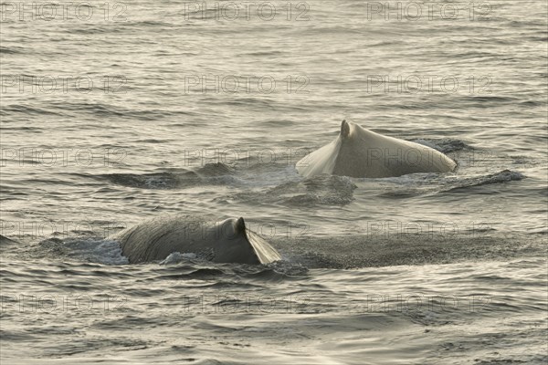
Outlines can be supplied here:
M452 172L457 163L425 145L399 140L342 120L337 138L304 156L296 169L304 177L322 173L385 178L416 172Z

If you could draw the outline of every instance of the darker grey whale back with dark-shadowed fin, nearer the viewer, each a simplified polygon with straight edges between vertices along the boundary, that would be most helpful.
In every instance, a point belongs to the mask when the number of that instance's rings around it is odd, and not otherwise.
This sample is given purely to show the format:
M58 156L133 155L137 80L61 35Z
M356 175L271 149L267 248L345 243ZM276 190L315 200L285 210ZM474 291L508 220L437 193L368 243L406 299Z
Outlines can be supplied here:
M222 222L188 215L153 218L111 235L130 264L165 259L174 252L193 253L216 263L269 264L281 256L243 217Z

